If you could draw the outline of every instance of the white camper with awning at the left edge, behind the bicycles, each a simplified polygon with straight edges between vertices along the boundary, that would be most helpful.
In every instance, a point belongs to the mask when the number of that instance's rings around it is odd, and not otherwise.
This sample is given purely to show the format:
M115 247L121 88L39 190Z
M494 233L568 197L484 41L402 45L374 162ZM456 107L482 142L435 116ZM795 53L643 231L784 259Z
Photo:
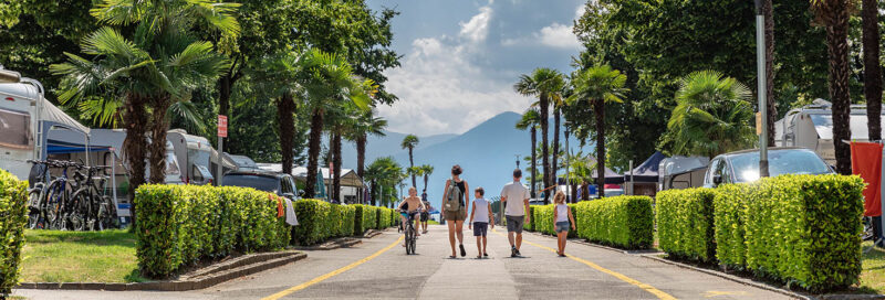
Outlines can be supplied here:
M50 130L66 130L88 148L90 129L43 97L40 82L0 67L0 169L28 179L31 163L48 156ZM85 161L88 164L88 156Z

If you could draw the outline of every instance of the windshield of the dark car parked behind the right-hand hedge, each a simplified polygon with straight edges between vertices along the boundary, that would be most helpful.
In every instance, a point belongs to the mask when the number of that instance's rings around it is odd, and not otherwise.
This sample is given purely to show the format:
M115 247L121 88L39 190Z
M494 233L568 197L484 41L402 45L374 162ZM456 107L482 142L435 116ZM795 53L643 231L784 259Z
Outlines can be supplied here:
M759 179L759 152L732 156L732 170L738 182ZM768 153L768 170L771 176L782 174L826 174L830 167L818 154L806 150L774 150Z

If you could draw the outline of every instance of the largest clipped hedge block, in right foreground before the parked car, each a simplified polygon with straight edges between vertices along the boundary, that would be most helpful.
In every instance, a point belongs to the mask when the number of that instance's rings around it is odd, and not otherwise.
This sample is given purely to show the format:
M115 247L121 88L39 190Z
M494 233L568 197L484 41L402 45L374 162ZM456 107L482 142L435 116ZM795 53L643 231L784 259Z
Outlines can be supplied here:
M858 281L861 178L781 175L721 189L715 222L723 264L815 292Z

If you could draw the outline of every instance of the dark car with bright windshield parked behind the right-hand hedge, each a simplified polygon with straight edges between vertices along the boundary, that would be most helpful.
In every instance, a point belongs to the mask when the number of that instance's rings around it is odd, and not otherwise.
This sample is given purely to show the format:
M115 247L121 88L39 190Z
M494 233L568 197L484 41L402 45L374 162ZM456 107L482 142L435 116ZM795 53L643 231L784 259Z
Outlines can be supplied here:
M814 151L805 148L771 148L768 150L769 175L832 174L833 169ZM710 161L704 176L705 188L725 183L759 180L759 149L720 154Z

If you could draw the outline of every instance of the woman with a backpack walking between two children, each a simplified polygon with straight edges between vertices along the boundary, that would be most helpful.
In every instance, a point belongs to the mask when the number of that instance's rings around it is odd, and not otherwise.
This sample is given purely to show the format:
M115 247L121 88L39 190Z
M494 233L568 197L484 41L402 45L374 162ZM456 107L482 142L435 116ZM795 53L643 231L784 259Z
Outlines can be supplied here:
M449 258L456 258L455 253L455 237L458 237L458 247L461 251L461 257L467 255L464 249L464 221L467 218L467 206L470 205L470 191L467 181L460 178L461 167L455 164L451 167L451 179L446 181L446 190L442 194L442 210L445 211L446 223L449 226L449 244L451 244L451 255Z

